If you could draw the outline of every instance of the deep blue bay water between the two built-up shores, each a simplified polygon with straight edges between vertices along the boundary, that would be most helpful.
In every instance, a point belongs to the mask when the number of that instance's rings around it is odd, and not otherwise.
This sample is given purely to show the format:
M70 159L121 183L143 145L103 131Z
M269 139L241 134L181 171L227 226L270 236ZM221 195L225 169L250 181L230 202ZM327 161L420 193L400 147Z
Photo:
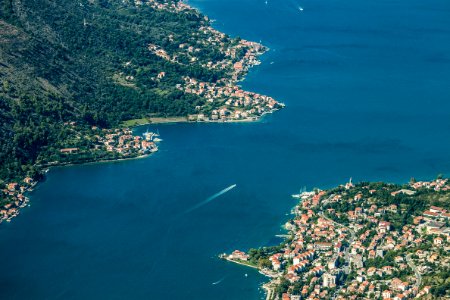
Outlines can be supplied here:
M152 157L52 169L0 226L1 299L259 299L265 278L216 255L276 242L299 188L449 173L447 0L190 3L271 48L243 86L287 108L161 125Z

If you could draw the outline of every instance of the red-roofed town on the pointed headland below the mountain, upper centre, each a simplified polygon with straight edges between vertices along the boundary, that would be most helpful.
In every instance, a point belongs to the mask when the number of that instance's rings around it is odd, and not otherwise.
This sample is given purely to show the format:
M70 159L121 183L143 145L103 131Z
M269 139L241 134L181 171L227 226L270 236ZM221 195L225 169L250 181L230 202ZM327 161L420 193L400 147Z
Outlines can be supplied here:
M197 12L181 1L160 3L150 0L148 5L176 13ZM173 37L169 36L169 41L173 42ZM250 68L260 64L258 56L267 51L263 45L238 38L231 39L211 26L201 26L186 42L175 46L176 51L171 52L155 44L149 44L148 49L166 61L197 64L206 69L222 71L224 75L216 82L185 76L184 82L176 85L180 91L206 100L204 105L195 108L197 114L188 116L188 121L254 121L284 107L283 103L272 97L244 91L237 85ZM214 59L206 59L201 55L204 49L209 48L218 49L219 53ZM159 81L165 76L166 73L161 71L153 80Z

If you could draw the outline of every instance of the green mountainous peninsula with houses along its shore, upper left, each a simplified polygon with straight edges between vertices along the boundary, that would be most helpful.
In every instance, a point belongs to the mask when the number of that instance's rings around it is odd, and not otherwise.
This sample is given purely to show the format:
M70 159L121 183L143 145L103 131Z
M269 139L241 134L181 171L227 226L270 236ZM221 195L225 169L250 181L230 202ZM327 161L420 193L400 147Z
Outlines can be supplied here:
M182 1L7 1L0 17L0 222L48 167L157 151L133 126L255 121L284 107L238 85L268 49Z

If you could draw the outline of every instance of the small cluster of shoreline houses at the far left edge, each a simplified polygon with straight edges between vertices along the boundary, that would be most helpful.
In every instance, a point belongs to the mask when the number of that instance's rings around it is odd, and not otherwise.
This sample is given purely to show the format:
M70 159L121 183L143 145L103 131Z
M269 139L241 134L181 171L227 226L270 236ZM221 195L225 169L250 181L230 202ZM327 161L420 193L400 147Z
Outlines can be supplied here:
M0 191L6 204L0 207L0 223L11 221L19 214L20 208L28 204L28 198L24 195L30 191L36 182L31 177L25 177L22 182L10 182Z

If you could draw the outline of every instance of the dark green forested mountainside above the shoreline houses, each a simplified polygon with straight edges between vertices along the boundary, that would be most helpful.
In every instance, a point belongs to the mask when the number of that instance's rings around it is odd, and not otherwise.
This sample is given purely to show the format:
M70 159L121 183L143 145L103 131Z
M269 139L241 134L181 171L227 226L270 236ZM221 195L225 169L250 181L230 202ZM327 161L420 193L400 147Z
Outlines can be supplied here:
M111 128L149 115L187 115L205 99L177 88L183 78L228 76L227 68L204 65L223 59L215 44L188 63L149 51L158 45L175 55L209 26L195 10L150 2L0 0L0 184L33 176L43 153L64 146L68 122ZM225 36L222 44L236 41Z

